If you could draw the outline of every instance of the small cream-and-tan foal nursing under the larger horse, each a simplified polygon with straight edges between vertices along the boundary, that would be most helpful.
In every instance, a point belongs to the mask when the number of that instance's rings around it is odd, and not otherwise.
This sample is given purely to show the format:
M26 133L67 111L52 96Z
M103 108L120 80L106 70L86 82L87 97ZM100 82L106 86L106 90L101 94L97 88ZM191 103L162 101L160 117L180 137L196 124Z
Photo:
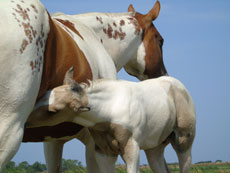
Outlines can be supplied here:
M67 73L71 77L73 72ZM32 114L50 117L45 122L49 124L53 123L50 111L55 113L55 123L69 121L88 127L96 148L114 158L121 155L128 173L138 172L140 149L153 171L168 172L164 159L168 143L177 153L180 172L189 172L196 117L193 100L180 81L169 76L139 83L66 81L50 91Z

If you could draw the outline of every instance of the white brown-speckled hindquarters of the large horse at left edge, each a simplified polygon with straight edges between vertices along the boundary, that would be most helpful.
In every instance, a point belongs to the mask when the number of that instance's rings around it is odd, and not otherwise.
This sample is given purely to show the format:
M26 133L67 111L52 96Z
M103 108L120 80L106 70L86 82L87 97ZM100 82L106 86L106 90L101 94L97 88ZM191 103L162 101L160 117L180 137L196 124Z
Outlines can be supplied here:
M37 97L49 30L47 19L39 1L0 2L1 169L17 152Z

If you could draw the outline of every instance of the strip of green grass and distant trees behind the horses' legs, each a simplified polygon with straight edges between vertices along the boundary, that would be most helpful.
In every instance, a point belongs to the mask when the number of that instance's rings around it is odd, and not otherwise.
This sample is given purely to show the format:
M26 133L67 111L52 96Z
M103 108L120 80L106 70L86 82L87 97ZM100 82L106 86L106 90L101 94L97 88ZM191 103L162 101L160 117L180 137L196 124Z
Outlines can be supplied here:
M81 165L76 160L63 160L63 173L87 173L86 167ZM179 173L178 164L168 164L171 173ZM218 162L218 163L199 163L193 164L191 167L191 173L230 173L230 162ZM15 165L14 162L10 162L3 170L3 173L47 173L45 164L35 162L33 165L29 165L27 162L22 162ZM117 165L115 173L126 173L125 165ZM140 173L152 173L151 169L147 165L140 166Z

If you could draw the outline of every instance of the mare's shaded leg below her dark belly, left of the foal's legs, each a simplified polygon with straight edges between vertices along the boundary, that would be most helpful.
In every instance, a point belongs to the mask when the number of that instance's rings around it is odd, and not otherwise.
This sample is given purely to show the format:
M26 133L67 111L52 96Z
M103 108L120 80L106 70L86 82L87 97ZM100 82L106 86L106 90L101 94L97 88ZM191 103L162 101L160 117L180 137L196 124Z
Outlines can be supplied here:
M66 141L44 142L44 153L49 173L62 172L62 152Z

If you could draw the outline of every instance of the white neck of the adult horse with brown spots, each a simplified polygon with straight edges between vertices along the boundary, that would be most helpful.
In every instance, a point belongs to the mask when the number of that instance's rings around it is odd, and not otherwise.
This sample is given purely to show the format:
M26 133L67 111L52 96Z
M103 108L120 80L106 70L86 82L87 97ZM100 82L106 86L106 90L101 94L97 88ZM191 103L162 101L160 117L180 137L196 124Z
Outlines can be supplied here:
M142 31L133 13L87 13L76 19L95 31L119 71L136 53Z

